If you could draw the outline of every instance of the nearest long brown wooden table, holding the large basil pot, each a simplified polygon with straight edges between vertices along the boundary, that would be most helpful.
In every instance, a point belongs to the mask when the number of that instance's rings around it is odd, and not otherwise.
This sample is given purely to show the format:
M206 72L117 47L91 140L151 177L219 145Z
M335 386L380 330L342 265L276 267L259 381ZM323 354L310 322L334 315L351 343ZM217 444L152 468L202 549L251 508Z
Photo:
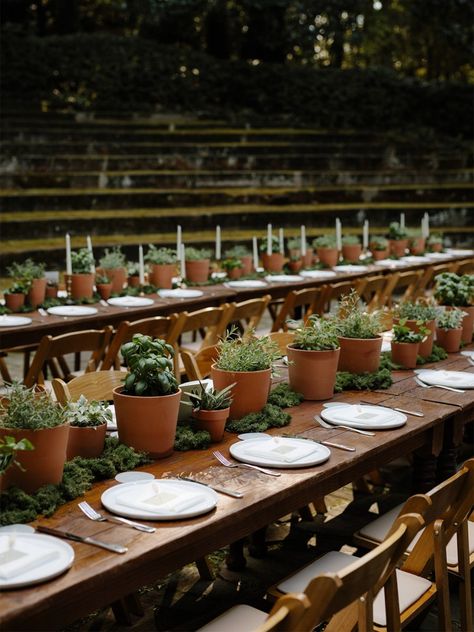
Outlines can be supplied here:
M460 354L453 354L436 366L474 372L474 367ZM319 466L281 470L281 477L274 478L245 468L224 468L212 457L210 448L175 453L141 468L157 478L186 473L244 493L243 499L219 494L217 508L207 515L191 520L157 522L154 534L143 534L110 523L89 521L77 509L76 503L80 500L77 499L62 506L51 518L41 519L39 522L44 525L125 544L129 551L125 555L116 555L72 543L76 559L64 575L44 584L0 595L2 629L61 628L401 455L415 452L438 456L443 450L445 429L452 423L462 427L474 420L474 390L460 394L420 389L414 383L411 371L397 371L394 378L395 382L388 390L345 392L334 399L396 405L421 411L423 418L408 415L405 426L367 437L338 428L321 428L315 424L313 416L320 412L322 402L304 402L291 409L293 418L288 427L283 431L271 431L271 434L288 433L318 441L332 439L356 448L354 453L332 449L329 461ZM227 454L229 446L237 440L235 435L226 433L218 447ZM98 483L85 497L99 508L101 494L116 484L110 480ZM422 489L415 486L414 491Z

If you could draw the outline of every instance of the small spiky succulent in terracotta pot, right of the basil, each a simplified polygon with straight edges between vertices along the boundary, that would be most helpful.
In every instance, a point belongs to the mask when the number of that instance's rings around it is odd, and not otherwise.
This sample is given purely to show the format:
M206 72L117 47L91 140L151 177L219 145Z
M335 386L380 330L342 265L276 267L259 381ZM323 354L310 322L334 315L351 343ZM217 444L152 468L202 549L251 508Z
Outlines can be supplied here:
M207 390L205 385L200 383L200 391L192 391L188 395L198 430L207 430L213 442L222 441L224 436L232 404L233 387L234 384L229 384L221 391L214 388Z

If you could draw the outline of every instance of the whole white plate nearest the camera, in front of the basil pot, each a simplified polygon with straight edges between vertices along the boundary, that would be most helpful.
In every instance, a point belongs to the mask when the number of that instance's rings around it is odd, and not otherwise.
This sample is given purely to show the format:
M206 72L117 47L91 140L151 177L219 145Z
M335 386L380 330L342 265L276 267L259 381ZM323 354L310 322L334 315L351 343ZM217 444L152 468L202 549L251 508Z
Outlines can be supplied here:
M101 500L108 511L127 518L182 520L214 509L217 494L199 483L163 478L116 485Z

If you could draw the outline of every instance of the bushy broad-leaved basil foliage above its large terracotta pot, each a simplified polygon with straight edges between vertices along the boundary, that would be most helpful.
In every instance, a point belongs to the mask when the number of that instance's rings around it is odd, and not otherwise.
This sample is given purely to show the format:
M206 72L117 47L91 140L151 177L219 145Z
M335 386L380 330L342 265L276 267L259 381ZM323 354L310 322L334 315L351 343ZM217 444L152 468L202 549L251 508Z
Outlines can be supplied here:
M173 373L174 349L164 340L135 334L121 347L129 374L125 379L125 395L171 395L178 391Z

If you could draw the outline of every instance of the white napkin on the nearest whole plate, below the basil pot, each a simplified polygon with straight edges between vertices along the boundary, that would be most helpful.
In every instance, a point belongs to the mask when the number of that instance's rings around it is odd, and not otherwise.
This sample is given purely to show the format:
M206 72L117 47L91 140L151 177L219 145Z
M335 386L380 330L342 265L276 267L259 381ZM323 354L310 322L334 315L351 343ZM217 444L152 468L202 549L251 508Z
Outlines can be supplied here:
M130 509L140 509L148 512L160 511L181 513L199 505L204 500L203 494L178 492L152 481L141 488L134 487L118 494L118 505Z

